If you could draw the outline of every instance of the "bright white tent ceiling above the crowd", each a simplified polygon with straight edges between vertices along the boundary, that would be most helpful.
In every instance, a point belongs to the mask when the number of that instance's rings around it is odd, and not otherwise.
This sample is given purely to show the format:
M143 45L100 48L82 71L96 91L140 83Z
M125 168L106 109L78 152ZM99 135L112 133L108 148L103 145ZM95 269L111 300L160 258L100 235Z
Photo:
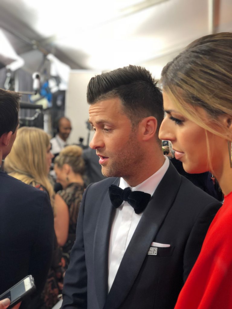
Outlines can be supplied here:
M25 70L53 53L72 69L135 64L158 78L192 40L232 32L232 0L1 0L0 28Z

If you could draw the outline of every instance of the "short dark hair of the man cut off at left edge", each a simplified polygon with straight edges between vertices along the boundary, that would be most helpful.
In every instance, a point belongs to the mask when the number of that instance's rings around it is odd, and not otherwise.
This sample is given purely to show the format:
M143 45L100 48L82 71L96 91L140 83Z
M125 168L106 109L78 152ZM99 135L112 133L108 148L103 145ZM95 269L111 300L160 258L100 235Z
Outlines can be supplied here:
M4 133L15 130L19 124L18 92L0 89L0 137Z

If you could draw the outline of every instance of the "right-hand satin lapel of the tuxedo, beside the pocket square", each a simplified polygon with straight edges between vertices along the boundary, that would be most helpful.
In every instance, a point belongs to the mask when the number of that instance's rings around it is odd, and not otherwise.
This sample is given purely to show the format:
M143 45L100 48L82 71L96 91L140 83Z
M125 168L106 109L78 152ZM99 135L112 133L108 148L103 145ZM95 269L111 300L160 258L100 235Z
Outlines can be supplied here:
M181 176L170 163L131 238L104 308L118 308L126 298L140 271L148 249L173 204L180 184Z

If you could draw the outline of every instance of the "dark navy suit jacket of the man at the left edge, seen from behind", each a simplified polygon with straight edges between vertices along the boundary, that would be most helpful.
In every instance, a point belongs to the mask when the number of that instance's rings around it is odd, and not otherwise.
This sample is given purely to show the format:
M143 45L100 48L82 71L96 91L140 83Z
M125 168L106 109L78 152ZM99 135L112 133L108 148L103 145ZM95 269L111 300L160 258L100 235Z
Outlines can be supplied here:
M46 192L0 172L0 294L32 274L42 290L53 242L53 211Z

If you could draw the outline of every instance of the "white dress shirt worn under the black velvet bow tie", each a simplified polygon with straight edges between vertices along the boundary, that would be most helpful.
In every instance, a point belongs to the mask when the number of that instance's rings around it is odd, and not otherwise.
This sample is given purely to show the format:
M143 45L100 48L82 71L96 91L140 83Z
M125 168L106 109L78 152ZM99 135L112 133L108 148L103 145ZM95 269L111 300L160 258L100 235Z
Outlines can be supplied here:
M148 179L144 180L141 184L138 184L136 187L131 187L131 191L142 191L149 193L152 196L168 167L169 159L165 156L165 162L161 168ZM119 187L125 189L129 187L129 185L123 178L120 178ZM125 201L116 209L115 217L111 226L109 243L108 291L111 289L119 265L122 261L122 257L129 242L131 241L142 215L143 213L135 214L134 208Z

